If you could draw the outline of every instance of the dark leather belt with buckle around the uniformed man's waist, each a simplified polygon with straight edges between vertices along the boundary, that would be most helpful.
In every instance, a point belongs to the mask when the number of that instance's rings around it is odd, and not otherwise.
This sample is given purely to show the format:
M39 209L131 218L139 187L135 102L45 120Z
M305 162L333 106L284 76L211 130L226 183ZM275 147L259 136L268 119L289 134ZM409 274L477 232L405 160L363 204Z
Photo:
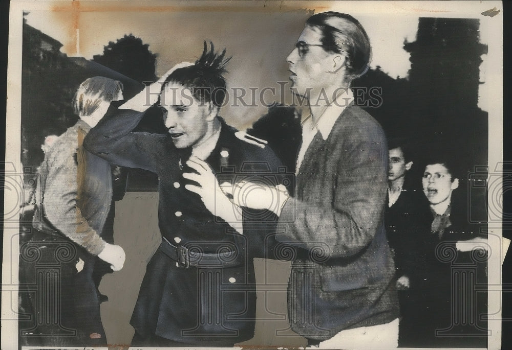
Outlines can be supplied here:
M178 262L183 267L234 267L243 264L243 255L236 251L222 253L200 253L190 250L182 245L175 246L168 239L162 237L160 249L170 259Z

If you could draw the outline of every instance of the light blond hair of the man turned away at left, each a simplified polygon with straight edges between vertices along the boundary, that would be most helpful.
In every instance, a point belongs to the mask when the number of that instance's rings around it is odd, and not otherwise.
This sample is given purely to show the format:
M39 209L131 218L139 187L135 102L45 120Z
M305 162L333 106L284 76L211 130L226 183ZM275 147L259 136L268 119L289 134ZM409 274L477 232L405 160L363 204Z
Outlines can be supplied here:
M91 115L102 101L114 101L123 84L114 79L105 77L92 77L84 80L73 99L73 109L79 116Z

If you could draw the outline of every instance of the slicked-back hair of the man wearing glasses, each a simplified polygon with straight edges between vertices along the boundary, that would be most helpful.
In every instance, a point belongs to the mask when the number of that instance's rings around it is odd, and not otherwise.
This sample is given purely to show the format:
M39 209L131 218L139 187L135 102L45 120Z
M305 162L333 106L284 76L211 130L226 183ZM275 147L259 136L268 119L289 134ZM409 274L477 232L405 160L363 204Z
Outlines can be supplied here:
M345 13L329 11L309 17L306 25L322 31L321 42L325 51L346 53L347 72L351 79L368 71L372 48L368 34L357 19Z

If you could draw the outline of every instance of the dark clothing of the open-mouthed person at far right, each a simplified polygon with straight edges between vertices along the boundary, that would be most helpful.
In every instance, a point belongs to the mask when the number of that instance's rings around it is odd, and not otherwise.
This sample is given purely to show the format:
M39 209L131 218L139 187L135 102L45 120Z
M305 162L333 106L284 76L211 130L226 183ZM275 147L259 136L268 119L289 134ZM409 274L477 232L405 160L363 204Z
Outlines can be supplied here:
M487 254L456 247L457 242L480 235L481 227L468 220L465 199L452 201L449 221L441 232L432 231L434 214L426 208L428 225L418 225L409 241L415 259L408 264L411 310L403 319L408 325L404 346L486 345L487 324L480 317L487 312Z

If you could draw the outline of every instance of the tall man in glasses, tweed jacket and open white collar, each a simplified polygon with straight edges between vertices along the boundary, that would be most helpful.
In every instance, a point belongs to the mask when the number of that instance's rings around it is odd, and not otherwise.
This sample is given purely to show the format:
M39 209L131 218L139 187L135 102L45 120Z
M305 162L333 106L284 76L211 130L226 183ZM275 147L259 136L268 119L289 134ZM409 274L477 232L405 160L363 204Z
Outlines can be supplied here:
M272 210L284 233L276 239L296 252L288 314L309 346L397 347L394 263L383 222L388 148L382 128L354 106L350 90L370 58L369 38L352 16L325 12L307 20L287 57L292 90L311 111L303 123L295 197L270 186L243 197L253 208L280 199ZM234 199L246 185L234 187Z

